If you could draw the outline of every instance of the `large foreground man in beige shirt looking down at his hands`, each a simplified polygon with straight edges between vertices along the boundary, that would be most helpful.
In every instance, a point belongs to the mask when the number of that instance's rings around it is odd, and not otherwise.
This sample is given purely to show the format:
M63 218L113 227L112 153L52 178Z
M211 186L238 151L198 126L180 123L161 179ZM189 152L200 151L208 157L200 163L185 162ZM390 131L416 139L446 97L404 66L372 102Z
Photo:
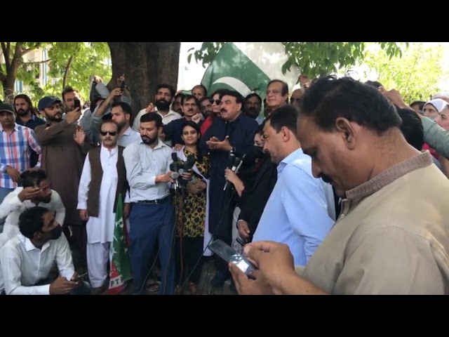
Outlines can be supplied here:
M449 293L449 181L400 125L375 88L335 77L311 85L298 135L342 213L300 275L285 245L248 244L259 270L251 280L230 265L239 293Z

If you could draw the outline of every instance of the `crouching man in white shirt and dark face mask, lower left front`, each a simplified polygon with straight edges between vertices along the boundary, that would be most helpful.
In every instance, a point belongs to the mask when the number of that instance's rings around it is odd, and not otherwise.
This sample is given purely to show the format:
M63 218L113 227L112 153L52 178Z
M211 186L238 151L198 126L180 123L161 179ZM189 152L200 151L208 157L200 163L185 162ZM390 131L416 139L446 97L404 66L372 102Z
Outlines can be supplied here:
M91 286L74 271L72 253L55 213L36 206L20 215L20 234L0 250L3 295L87 295ZM53 262L60 275L49 277Z

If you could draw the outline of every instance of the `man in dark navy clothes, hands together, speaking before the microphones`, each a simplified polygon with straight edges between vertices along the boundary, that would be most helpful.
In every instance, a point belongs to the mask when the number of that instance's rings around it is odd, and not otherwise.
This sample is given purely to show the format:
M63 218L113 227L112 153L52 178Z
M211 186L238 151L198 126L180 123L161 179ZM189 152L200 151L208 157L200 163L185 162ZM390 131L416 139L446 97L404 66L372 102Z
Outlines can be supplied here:
M225 187L225 169L231 163L229 153L243 157L243 163L250 164L251 150L257 131L257 122L242 113L245 106L243 96L237 91L222 91L220 95L220 117L215 119L200 139L200 149L209 154L209 232L215 239L222 239L227 244L232 242L232 214L236 201L232 198L232 185ZM217 273L210 282L213 286L222 286L230 277L227 263L216 258Z

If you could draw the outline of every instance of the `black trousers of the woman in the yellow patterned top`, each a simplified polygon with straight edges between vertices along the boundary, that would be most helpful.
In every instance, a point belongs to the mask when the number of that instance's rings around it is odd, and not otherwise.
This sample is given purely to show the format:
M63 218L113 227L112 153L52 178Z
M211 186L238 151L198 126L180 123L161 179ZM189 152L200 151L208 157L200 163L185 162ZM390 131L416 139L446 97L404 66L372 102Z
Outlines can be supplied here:
M175 282L184 284L187 277L194 284L199 284L203 270L204 237L179 237L175 241ZM190 276L189 276L190 275Z

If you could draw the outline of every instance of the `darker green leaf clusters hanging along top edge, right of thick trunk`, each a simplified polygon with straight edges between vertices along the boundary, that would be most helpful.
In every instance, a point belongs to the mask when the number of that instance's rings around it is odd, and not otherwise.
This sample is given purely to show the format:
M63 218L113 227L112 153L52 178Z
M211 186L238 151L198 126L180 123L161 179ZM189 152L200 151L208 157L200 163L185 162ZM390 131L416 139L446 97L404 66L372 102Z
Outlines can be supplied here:
M194 55L197 61L208 65L220 51L225 42L203 42L198 51L189 50L187 60ZM402 54L400 44L396 42L379 43L390 58ZM365 55L366 42L283 42L288 60L282 67L285 74L295 65L309 77L337 72L337 70L356 65Z

